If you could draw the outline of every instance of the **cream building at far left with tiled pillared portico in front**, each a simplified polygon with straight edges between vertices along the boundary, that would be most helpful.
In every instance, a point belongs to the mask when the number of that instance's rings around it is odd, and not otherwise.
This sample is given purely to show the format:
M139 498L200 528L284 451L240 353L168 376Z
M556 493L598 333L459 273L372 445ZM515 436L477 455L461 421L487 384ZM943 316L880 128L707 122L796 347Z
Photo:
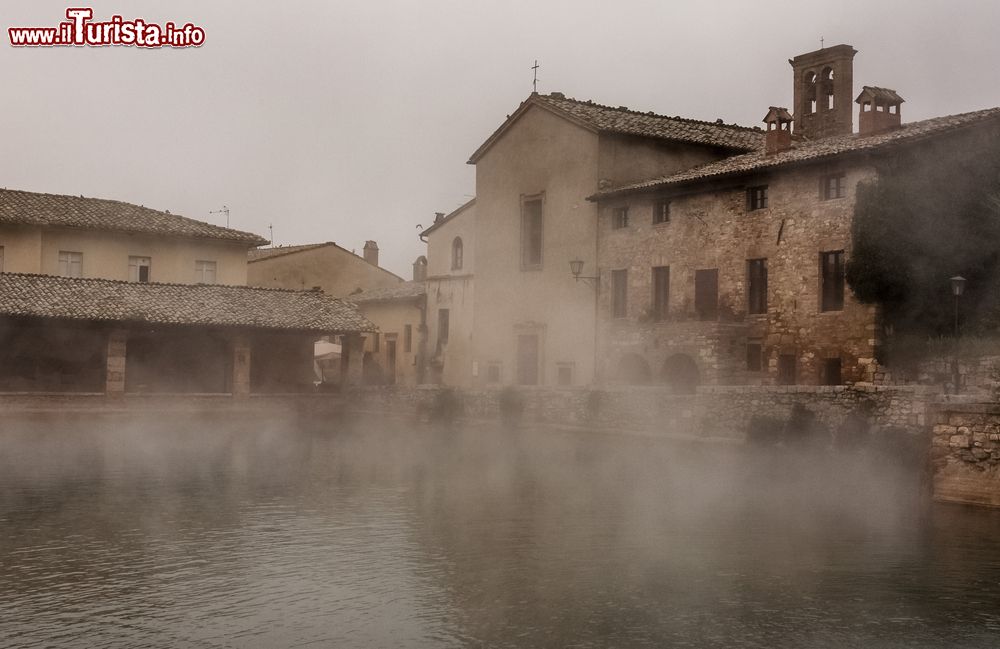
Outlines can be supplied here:
M245 286L254 234L119 201L0 191L0 392L312 389L341 336L360 381L374 325L320 291Z

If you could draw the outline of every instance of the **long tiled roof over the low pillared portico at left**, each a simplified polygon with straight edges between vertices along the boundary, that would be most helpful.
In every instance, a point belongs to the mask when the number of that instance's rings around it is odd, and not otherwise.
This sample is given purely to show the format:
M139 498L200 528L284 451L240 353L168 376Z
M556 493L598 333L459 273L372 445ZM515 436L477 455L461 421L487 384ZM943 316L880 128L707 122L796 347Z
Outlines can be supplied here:
M344 333L375 331L321 291L0 273L0 315Z

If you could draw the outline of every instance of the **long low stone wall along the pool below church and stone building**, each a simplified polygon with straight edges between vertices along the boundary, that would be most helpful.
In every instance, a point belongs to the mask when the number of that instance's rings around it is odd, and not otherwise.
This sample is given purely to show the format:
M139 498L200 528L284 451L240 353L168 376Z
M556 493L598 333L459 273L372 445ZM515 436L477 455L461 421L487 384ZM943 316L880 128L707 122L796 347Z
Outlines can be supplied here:
M355 411L427 418L454 404L458 416L500 420L520 413L524 424L578 426L607 432L743 440L751 418L787 420L796 404L831 431L856 411L870 413L876 430L913 433L933 423L936 391L923 386L727 386L671 394L662 387L505 388L457 391L434 387L366 389L352 394Z

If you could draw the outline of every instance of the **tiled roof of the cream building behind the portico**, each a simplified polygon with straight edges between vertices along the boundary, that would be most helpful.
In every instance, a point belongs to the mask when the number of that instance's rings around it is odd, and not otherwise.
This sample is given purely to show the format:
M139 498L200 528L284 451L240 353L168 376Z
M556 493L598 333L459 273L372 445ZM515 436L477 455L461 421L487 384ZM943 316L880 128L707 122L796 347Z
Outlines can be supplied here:
M251 246L267 243L263 237L250 232L223 228L131 203L83 196L36 194L15 189L0 189L0 223L223 239Z

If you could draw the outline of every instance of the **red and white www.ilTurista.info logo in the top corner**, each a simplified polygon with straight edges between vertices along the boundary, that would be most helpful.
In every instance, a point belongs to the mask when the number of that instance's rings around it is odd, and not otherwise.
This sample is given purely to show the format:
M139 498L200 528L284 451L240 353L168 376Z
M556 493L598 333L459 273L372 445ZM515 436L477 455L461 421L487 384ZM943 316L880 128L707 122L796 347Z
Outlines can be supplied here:
M142 18L125 20L114 15L107 22L93 22L90 7L70 7L69 20L57 27L8 27L10 44L15 47L125 45L136 47L198 47L205 42L205 30L187 23L159 25Z

